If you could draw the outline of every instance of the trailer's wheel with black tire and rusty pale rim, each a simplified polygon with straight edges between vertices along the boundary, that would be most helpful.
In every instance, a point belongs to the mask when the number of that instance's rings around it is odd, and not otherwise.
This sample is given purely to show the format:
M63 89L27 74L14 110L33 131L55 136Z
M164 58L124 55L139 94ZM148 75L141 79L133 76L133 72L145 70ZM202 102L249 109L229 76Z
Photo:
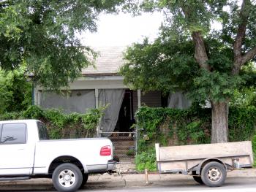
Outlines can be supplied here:
M201 178L208 187L219 187L225 183L227 172L225 166L216 161L211 161L203 166Z

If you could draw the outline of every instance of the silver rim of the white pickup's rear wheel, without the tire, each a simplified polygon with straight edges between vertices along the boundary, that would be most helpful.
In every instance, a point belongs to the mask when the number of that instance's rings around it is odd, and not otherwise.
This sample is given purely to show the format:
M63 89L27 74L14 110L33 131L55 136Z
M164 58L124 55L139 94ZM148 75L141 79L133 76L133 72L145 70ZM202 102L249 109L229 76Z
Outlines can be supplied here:
M69 188L75 183L75 173L69 169L63 170L59 174L59 184L65 188Z

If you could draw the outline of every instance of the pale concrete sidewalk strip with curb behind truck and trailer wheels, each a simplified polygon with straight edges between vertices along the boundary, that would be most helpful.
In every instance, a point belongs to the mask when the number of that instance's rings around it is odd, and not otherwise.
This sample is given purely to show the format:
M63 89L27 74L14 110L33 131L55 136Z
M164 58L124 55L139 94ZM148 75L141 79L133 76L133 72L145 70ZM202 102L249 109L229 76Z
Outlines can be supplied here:
M256 177L256 169L244 169L228 172L227 177ZM191 176L183 174L148 174L149 185L166 185L170 182L195 182ZM145 174L94 174L89 176L84 188L123 188L146 185ZM53 190L50 179L32 179L26 181L0 182L0 191Z

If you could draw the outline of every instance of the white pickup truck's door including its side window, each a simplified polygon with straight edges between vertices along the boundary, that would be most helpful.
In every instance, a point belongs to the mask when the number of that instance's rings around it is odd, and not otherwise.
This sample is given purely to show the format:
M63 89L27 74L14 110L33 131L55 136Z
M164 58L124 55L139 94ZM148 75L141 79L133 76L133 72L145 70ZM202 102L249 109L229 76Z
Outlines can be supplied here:
M26 123L0 125L0 175L29 175L34 163L34 144L27 140Z

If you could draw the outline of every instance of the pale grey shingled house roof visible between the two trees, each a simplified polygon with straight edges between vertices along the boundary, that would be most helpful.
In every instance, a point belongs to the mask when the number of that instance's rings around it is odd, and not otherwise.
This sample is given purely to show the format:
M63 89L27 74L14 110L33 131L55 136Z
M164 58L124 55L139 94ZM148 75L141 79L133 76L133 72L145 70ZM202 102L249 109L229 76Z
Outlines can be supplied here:
M92 47L98 53L94 61L95 68L89 66L82 70L84 76L117 75L124 64L123 53L126 47Z

